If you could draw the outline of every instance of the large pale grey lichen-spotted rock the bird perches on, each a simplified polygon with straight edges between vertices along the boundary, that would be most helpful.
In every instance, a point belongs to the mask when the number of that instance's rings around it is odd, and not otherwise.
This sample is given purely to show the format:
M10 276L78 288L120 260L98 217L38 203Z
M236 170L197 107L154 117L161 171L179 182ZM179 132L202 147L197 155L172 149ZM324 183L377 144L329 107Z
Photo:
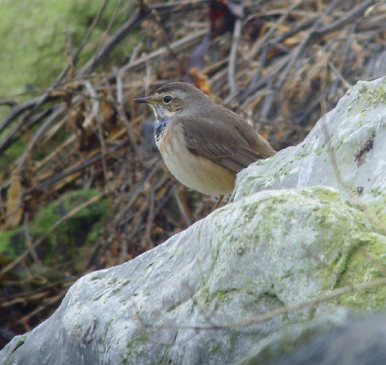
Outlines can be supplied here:
M383 275L385 90L386 79L358 83L302 144L241 172L232 204L79 279L54 315L12 339L0 359L225 364L339 305L384 309L385 286L328 302L324 295Z

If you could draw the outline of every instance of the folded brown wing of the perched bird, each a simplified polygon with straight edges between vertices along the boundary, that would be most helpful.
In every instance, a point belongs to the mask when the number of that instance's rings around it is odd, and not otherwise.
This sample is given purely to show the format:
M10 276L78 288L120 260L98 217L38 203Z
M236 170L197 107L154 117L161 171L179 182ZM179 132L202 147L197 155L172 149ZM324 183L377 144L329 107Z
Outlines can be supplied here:
M226 113L222 116L226 119L236 115ZM217 117L221 117L221 113ZM181 123L187 150L235 172L258 159L274 155L270 144L252 126L240 119L233 119L232 123L224 122L225 119L221 123L208 117L183 119Z

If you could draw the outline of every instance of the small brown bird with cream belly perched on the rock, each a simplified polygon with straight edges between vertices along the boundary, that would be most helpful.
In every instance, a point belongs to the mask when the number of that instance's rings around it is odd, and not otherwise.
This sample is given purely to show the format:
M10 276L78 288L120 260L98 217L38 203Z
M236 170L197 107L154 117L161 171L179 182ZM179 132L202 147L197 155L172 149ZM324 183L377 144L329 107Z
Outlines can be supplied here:
M156 146L172 175L205 195L230 195L237 172L276 153L243 118L190 83L166 83L134 101L152 108Z

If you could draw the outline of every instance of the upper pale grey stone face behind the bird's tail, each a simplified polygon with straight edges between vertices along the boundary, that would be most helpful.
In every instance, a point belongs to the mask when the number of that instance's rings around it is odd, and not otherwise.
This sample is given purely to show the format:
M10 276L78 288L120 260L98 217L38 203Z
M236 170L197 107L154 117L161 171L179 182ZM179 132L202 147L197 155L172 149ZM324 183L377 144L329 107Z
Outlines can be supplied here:
M241 171L234 200L266 189L330 186L342 193L349 188L360 201L385 208L385 120L385 77L358 82L301 144Z

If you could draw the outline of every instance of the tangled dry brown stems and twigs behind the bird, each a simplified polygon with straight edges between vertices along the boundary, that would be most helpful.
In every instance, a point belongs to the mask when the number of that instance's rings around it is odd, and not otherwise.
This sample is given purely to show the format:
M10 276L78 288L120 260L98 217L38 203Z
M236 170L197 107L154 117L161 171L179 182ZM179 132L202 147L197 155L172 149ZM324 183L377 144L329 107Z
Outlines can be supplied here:
M103 10L76 48L67 39L68 65L41 92L9 108L0 121L0 224L23 228L17 258L0 254L1 321L5 344L57 308L68 286L91 270L120 264L205 217L213 197L187 190L167 172L154 146L152 113L132 99L167 81L190 81L243 115L276 150L298 144L358 80L386 71L383 1L139 1L112 34L111 19L91 59L79 55ZM114 68L104 67L128 38L136 46ZM23 152L12 158L12 146ZM73 190L99 194L63 214L33 237L29 222ZM44 268L41 247L58 226L96 201L109 218L91 250ZM20 279L19 271L25 273Z

